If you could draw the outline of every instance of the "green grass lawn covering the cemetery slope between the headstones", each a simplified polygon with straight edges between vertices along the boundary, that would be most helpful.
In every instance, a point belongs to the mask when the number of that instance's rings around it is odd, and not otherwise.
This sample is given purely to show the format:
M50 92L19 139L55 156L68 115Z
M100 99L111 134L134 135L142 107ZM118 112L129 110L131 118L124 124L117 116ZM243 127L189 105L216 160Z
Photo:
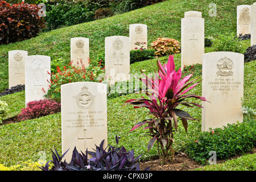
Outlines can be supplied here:
M106 36L129 36L129 24L144 23L148 26L148 44L160 36L174 38L180 41L180 19L185 11L196 10L203 13L205 18L205 36L217 36L225 32L236 33L236 6L248 4L253 1L221 1L216 2L217 16L208 15L208 5L212 1L166 1L129 13L112 16L110 18L96 20L94 22L77 24L51 32L44 32L36 38L23 42L0 46L0 90L8 86L8 51L22 49L28 51L28 55L51 56L51 60L63 58L65 63L70 59L70 39L73 37L85 37L90 39L90 58L96 63L104 53L104 39ZM250 46L249 41L243 41L245 47ZM205 48L205 53L213 51ZM168 56L161 58L167 61ZM139 69L152 73L157 68L156 60L146 60L131 64L131 73L139 73ZM176 69L180 68L180 54L175 55ZM256 107L255 85L256 62L245 64L244 76L244 104ZM200 76L200 74L198 75ZM201 96L201 84L191 90L192 94ZM141 159L150 159L158 155L156 147L147 152L147 142L150 138L144 137L145 130L137 129L129 132L138 121L148 117L146 109L134 109L124 102L130 98L139 98L143 94L128 94L108 100L108 141L115 144L115 135L121 137L119 145L127 149L134 148L135 154L143 154ZM0 97L9 105L9 114L12 117L20 113L25 107L24 91ZM199 103L199 101L196 101ZM200 104L200 103L199 103ZM175 133L174 150L183 151L184 144L195 141L201 131L201 110L199 108L182 108L197 118L189 121L188 134L185 134L181 123L178 132ZM6 118L7 118L6 117ZM51 150L56 148L61 152L61 115L60 113L47 115L46 117L22 121L15 124L0 126L0 164L6 166L21 164L29 159L37 161L42 152L46 153L47 160L51 159ZM246 160L254 159L255 155L247 156ZM239 162L238 162L239 163ZM238 164L236 163L236 164Z

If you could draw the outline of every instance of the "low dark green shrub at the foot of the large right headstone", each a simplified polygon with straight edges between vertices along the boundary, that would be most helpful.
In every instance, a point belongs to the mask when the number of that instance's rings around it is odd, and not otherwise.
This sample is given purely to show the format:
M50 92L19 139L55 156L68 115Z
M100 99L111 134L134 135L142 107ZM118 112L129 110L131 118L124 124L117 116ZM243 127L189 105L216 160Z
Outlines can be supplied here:
M206 164L210 158L209 152L215 151L217 159L228 159L232 155L243 154L256 145L256 122L251 120L232 124L224 129L204 131L195 142L189 142L186 153L190 158Z

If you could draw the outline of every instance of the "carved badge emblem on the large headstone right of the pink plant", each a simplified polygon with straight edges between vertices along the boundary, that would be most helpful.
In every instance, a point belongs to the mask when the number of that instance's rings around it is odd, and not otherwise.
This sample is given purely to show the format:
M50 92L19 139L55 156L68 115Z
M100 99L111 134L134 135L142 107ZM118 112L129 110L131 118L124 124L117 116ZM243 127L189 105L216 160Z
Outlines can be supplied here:
M228 59L228 57L224 57L220 59L217 63L217 76L232 76L233 75L233 62Z

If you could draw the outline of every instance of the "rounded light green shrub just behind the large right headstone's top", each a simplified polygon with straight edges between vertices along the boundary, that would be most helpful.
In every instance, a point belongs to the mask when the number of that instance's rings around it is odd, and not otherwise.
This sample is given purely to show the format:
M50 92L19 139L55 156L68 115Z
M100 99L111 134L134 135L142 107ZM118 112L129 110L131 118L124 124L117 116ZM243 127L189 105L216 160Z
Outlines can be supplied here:
M243 53L243 47L237 36L232 33L219 35L218 38L212 40L214 51L230 51Z

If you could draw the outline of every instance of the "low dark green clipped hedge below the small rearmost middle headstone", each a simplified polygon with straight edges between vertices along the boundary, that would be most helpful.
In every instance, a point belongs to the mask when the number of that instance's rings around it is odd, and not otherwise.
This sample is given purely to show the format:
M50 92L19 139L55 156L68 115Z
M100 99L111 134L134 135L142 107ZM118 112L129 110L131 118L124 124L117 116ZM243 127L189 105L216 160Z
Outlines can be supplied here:
M141 49L131 50L130 51L130 64L155 58L154 54L155 54L154 49L143 49L142 51L141 51Z

